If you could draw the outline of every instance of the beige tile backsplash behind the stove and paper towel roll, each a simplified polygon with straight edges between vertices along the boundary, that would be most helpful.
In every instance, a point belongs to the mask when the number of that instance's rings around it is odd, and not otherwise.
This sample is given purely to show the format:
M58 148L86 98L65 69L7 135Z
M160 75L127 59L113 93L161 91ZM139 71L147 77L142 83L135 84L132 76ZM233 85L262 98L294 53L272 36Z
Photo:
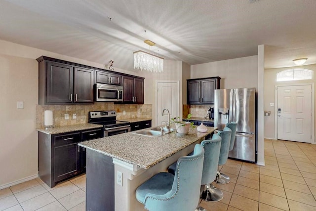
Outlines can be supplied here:
M95 102L92 105L37 105L35 127L44 127L44 111L53 111L53 126L69 126L88 122L89 111L116 111L117 119L129 118L152 118L151 104L114 104ZM125 111L125 115L123 114ZM69 119L65 120L65 114L69 114ZM73 119L73 114L77 115Z

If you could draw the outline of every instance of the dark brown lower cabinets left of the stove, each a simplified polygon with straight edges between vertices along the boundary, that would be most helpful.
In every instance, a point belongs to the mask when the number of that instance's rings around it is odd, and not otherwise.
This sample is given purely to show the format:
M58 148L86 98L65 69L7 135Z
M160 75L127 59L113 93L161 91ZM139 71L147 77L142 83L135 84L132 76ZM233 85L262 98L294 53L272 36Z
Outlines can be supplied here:
M78 143L104 137L103 128L46 134L39 132L39 176L49 187L85 172L85 149Z

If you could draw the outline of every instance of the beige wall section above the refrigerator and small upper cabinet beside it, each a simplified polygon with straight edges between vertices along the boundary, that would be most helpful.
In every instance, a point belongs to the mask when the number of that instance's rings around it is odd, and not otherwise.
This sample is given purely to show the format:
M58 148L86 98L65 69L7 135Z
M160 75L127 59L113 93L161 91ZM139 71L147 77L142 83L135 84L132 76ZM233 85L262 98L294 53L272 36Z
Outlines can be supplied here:
M191 65L191 79L221 77L221 88L258 88L258 56Z

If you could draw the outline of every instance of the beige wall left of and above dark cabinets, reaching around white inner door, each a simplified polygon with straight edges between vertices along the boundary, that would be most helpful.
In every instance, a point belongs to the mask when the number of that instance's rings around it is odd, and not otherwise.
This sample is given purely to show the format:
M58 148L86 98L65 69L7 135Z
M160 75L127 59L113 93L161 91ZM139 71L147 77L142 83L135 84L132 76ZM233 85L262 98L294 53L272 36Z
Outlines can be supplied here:
M0 40L0 189L37 177L38 132L35 130L35 110L38 104L38 62L41 55L104 68L86 60L40 50ZM164 61L164 73L115 71L145 77L146 104L153 104L153 123L156 117L156 80L177 80L182 87L182 62ZM180 93L182 102L182 90ZM24 109L17 109L24 101ZM182 106L182 105L181 105ZM155 107L156 108L156 107ZM182 112L182 109L181 109Z

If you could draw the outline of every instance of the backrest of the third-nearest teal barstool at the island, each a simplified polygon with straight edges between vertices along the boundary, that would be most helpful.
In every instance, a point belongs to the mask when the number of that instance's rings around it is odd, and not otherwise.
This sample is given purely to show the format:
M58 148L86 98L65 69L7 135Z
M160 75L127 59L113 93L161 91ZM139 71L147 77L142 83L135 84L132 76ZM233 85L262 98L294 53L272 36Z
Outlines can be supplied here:
M229 145L231 143L232 130L228 127L224 127L217 133L222 138L221 152L219 154L218 165L224 165L228 159Z

